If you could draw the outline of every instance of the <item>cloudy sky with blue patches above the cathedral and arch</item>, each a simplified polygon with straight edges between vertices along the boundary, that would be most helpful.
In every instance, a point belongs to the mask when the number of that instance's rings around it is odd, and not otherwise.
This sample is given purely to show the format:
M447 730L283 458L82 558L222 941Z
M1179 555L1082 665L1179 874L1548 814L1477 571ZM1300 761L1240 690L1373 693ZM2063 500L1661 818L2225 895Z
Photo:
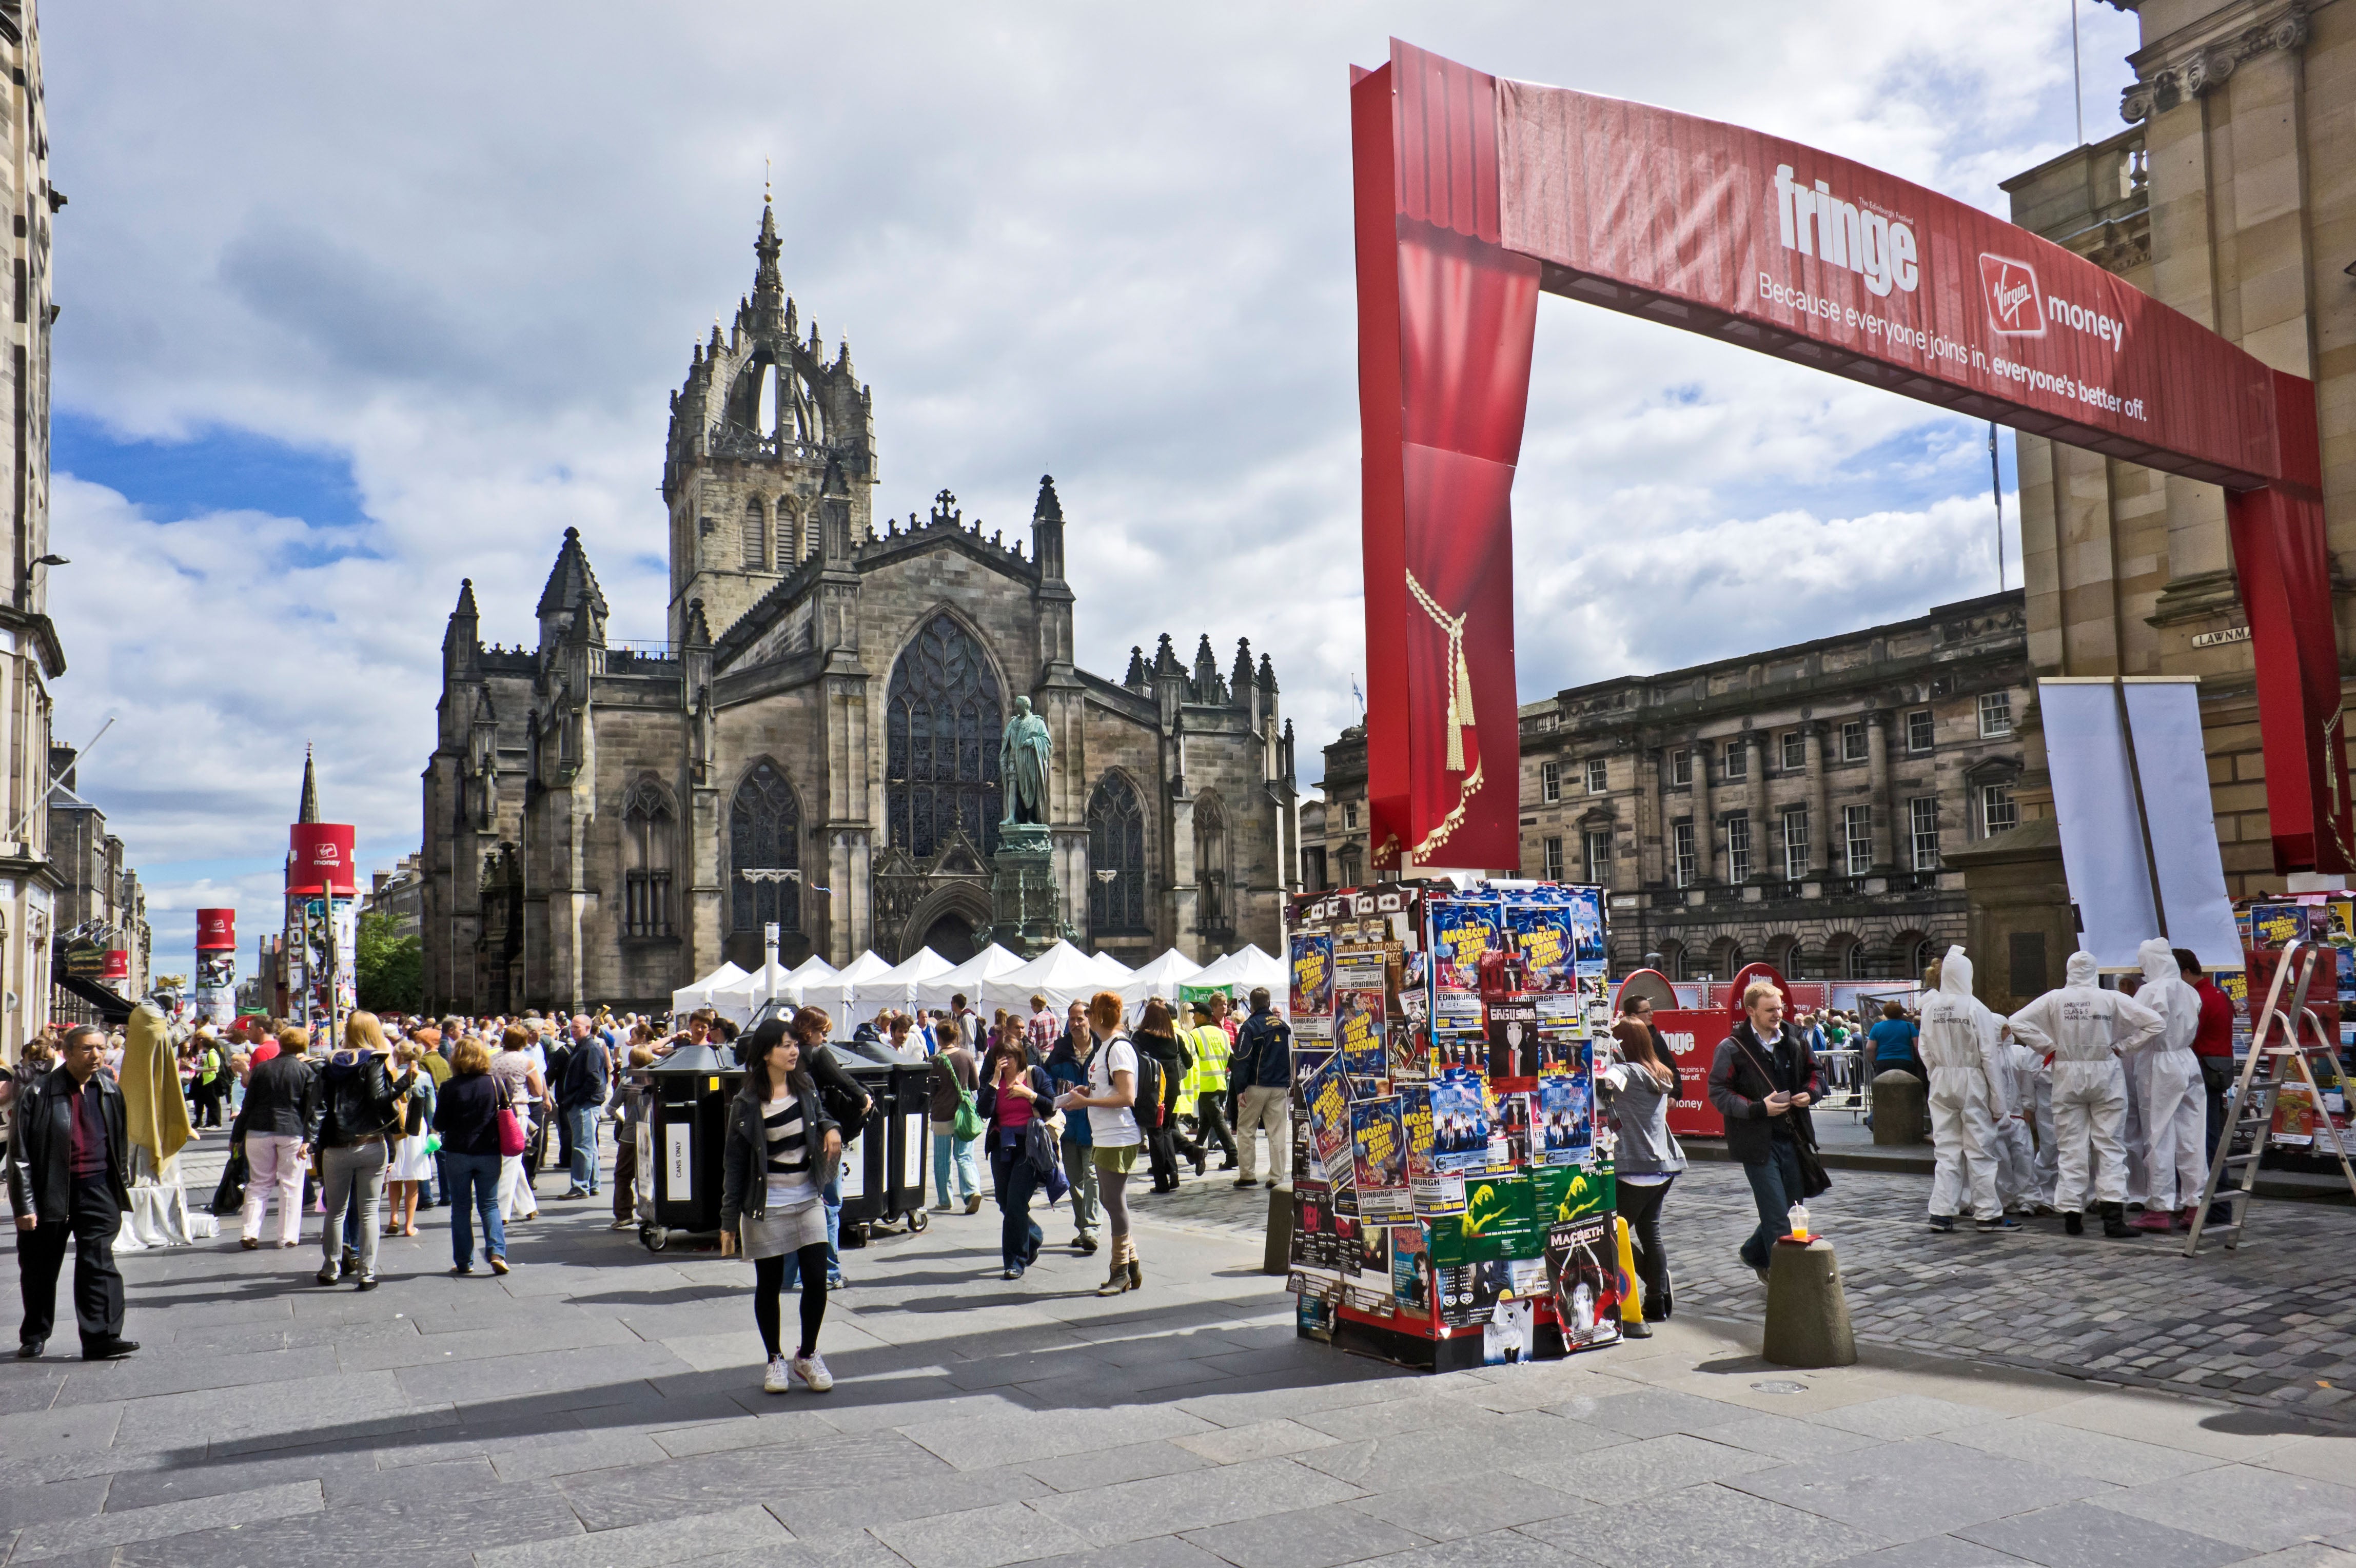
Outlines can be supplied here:
M363 864L419 841L459 577L528 638L568 525L660 638L667 393L752 280L872 381L881 511L1055 473L1079 647L1275 655L1357 718L1350 61L1826 146L2003 210L2076 141L2069 0L1623 5L177 2L42 14L61 739L141 866L273 916L304 744ZM2080 16L2090 137L2132 16ZM1986 428L1548 299L1515 490L1524 699L1996 586ZM2005 485L2010 490L2010 438ZM2010 494L2005 501L2010 520ZM2019 584L2017 539L2007 542Z

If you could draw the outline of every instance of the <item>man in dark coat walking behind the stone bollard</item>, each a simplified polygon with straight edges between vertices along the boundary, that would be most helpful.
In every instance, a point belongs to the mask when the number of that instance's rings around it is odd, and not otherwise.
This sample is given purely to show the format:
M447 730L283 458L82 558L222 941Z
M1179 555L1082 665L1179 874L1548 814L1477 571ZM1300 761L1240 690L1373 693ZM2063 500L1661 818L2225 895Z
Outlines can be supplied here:
M1807 1114L1819 1095L1824 1074L1800 1031L1783 1022L1783 991L1767 979L1751 982L1743 1017L1710 1062L1710 1104L1727 1118L1727 1154L1743 1163L1760 1208L1760 1224L1741 1245L1760 1281L1769 1248L1791 1234L1791 1205L1831 1187Z

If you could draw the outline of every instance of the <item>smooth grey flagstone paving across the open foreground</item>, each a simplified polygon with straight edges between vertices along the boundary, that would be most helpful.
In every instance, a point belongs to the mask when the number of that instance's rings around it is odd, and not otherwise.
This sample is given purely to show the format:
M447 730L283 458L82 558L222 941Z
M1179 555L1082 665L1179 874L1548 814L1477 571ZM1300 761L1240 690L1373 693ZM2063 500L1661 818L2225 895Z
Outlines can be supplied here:
M137 1356L0 1361L0 1563L2356 1568L2356 1436L2309 1420L1871 1342L1795 1373L1689 1314L1421 1377L1298 1340L1265 1194L1216 1182L1140 1201L1140 1295L1063 1248L1001 1281L990 1210L848 1250L827 1396L761 1391L742 1262L650 1255L601 1203L544 1196L507 1278L452 1278L436 1210L368 1295L311 1281L316 1220L130 1255ZM1670 1201L1725 1311L1734 1220L1703 1215L1739 1182ZM1866 1274L1981 1257L1864 1189L1824 1212Z

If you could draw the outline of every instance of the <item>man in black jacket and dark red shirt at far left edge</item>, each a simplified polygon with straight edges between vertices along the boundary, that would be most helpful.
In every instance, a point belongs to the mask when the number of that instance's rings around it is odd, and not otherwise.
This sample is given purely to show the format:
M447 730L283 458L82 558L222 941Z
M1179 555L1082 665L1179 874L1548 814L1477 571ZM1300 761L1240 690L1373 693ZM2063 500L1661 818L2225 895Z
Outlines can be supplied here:
M24 1326L16 1356L31 1361L57 1323L57 1271L73 1243L73 1316L82 1361L115 1361L139 1344L123 1337L123 1274L115 1231L132 1205L123 1090L99 1071L106 1036L66 1031L59 1064L14 1099L7 1196L16 1210L16 1283Z

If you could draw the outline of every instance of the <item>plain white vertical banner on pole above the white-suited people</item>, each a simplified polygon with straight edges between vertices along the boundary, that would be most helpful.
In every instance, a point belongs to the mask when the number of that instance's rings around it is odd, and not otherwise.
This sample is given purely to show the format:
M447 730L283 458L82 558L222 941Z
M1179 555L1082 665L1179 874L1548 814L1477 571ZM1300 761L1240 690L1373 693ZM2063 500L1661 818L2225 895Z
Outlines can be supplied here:
M2078 946L2125 970L2142 942L2165 935L2208 970L2243 968L2210 805L2201 683L2038 680L2038 713Z

